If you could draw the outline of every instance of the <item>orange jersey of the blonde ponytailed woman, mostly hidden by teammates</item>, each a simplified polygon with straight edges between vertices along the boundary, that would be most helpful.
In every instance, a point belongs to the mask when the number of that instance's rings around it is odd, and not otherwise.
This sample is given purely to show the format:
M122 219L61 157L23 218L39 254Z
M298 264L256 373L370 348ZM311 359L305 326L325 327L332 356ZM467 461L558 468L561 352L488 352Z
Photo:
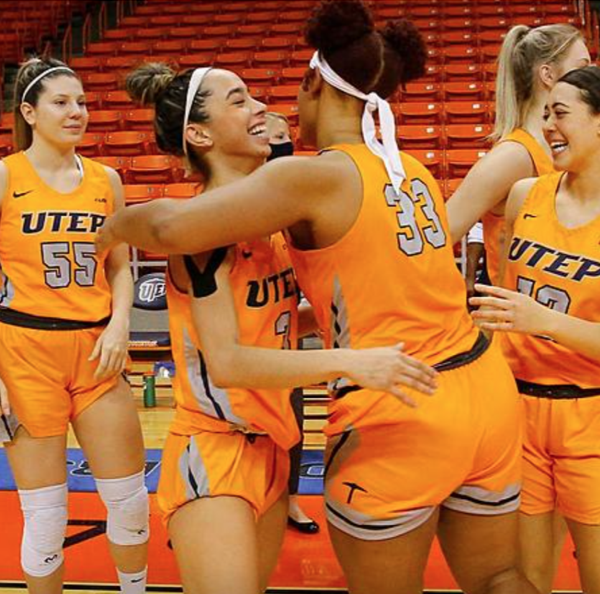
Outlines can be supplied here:
M536 176L546 175L554 171L550 155L526 130L517 128L500 142L517 142L523 145L531 157ZM502 246L504 245L505 218L504 215L497 215L490 211L483 215L482 221L488 276L492 284L496 285L500 280L498 274L500 272Z

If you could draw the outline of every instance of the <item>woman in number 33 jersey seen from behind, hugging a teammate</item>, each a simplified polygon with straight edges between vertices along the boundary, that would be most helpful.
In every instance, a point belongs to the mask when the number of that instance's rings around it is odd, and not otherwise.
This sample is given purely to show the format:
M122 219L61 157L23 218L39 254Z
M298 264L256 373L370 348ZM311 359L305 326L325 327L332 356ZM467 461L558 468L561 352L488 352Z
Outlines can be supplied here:
M377 30L359 0L322 3L306 36L317 52L299 94L301 135L321 154L276 159L185 204L125 209L99 245L191 253L286 229L328 346L401 340L439 372L433 397L411 391L413 407L351 378L331 385L325 501L350 591L420 593L439 529L464 591L534 594L515 546L514 379L467 313L439 187L398 152L382 98L423 73L422 37L406 21Z

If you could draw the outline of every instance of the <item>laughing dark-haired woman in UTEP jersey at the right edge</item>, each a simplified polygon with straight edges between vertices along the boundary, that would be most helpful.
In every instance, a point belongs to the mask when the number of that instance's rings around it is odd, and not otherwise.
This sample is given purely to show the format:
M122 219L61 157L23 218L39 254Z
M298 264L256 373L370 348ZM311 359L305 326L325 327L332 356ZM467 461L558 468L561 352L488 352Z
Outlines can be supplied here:
M507 288L478 286L486 296L471 302L489 308L473 314L483 328L507 332L505 352L525 401L525 553L546 567L542 591L550 592L551 552L540 541L552 540L557 509L577 548L583 591L598 594L600 70L563 76L548 105L544 132L557 173L514 186ZM538 533L528 539L531 526Z

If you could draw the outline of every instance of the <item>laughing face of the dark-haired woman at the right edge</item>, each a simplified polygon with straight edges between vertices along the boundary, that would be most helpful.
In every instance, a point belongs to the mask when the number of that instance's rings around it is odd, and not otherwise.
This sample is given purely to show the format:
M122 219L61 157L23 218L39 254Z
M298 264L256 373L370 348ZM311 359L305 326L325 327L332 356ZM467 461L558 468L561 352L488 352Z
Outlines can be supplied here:
M552 149L555 169L576 173L597 167L600 115L592 113L577 87L557 83L550 93L544 120L544 136Z

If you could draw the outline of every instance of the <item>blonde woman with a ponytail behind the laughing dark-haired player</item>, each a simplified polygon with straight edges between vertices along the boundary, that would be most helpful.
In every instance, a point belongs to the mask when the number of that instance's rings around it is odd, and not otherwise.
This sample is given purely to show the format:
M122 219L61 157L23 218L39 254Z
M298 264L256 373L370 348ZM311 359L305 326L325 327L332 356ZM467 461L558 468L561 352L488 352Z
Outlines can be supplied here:
M496 81L496 145L477 162L448 201L454 243L483 220L488 277L498 282L504 207L518 180L552 171L550 149L542 133L548 91L562 74L590 63L581 33L570 25L531 29L517 25L509 32L498 58ZM476 266L470 267L474 274ZM472 285L473 277L467 278Z

